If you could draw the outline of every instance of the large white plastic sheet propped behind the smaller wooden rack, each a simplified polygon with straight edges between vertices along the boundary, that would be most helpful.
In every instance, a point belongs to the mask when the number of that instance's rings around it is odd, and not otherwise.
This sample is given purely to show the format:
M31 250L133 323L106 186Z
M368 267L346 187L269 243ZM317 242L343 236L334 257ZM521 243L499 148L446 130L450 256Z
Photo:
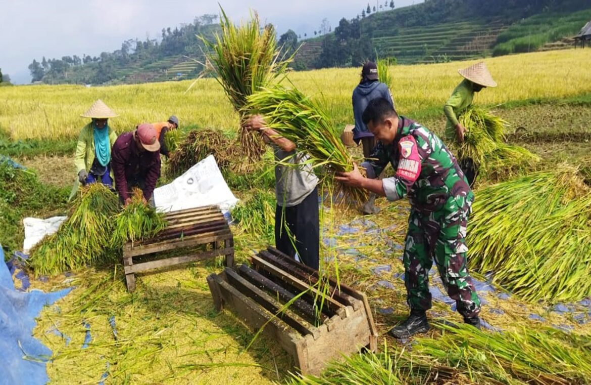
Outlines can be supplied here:
M154 203L164 212L209 205L229 211L238 199L223 179L215 158L209 155L170 184L155 189Z

